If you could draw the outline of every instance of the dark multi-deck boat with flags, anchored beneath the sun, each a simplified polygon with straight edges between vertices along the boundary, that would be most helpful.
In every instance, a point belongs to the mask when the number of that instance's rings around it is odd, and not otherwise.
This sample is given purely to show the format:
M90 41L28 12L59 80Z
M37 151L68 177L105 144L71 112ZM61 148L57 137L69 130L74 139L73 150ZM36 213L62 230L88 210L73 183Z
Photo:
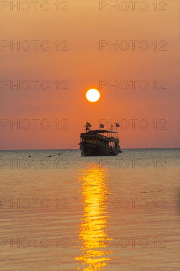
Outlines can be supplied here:
M82 156L110 156L121 153L118 132L108 130L91 130L86 123L86 133L81 133L79 143ZM104 125L100 124L100 128ZM113 128L112 128L113 129Z

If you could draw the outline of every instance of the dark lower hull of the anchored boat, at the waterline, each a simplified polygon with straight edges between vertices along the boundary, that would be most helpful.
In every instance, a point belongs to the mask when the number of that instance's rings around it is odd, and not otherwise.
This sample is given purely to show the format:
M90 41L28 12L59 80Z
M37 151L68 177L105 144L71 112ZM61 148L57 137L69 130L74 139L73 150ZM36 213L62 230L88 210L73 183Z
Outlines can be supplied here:
M80 150L82 156L110 156L122 152L119 148L111 149L106 146L90 144L88 142L80 142Z

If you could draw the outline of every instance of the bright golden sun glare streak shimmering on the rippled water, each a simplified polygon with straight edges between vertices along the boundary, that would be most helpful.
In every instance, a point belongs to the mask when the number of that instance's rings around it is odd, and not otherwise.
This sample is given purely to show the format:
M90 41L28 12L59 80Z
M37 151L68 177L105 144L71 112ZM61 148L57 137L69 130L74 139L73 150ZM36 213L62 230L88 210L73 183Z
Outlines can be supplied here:
M96 164L89 164L81 169L79 181L83 205L82 222L79 226L80 256L77 270L101 271L107 266L113 253L108 243L107 233L107 169L99 169ZM102 238L102 239L101 239ZM101 242L102 241L102 242Z

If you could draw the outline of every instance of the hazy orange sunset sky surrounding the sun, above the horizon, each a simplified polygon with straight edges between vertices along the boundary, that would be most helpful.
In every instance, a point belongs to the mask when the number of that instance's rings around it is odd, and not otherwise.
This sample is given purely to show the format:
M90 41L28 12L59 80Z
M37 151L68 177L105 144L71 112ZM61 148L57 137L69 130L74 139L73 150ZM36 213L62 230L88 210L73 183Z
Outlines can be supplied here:
M1 2L10 5L10 1ZM129 3L127 11L116 11L115 8L109 11L108 6L99 11L98 0L70 0L65 1L68 2L65 12L56 11L54 3L57 1L48 2L50 10L46 12L40 10L39 5L35 12L32 5L27 12L21 8L11 11L10 6L1 11L1 40L14 43L19 40L20 44L24 40L30 42L27 51L10 50L10 46L2 51L1 47L1 80L9 81L8 86L1 86L1 121L6 119L9 123L1 126L1 149L69 148L79 143L79 135L84 131L85 109L93 129L99 128L100 119L112 123L116 120L120 123L122 119L128 121L126 130L117 130L122 149L179 147L179 1L165 1L167 11L164 12L154 11L154 1L146 1L149 3L147 11L141 11L138 6L132 11L129 1L126 1ZM159 9L160 1L157 3ZM59 4L60 8L64 5L62 1ZM36 51L31 40L39 40ZM43 40L50 43L47 51L40 49ZM68 50L57 51L53 44L57 40L67 40ZM126 40L129 49L123 51L112 47L108 50L106 46L100 51L99 40L112 43ZM138 41L134 51L130 40ZM141 40L148 42L148 50L139 49ZM158 49L158 42L165 40L167 50L154 50L154 40L157 40ZM43 90L37 83L34 90L31 82L29 90L21 87L11 90L10 80L48 80L50 88ZM53 83L56 80L67 80L68 89L56 90ZM110 90L108 86L102 87L100 100L88 102L86 91L99 89L99 80L111 80L112 83L127 80L129 88L116 90L112 87ZM138 80L137 86L139 81L147 80L149 88L132 90L129 80ZM154 90L154 80L165 80L167 89ZM158 88L160 85L158 83ZM11 127L11 119L14 122L19 119L20 123L28 119L30 128ZM39 120L36 130L31 119ZM44 119L50 123L48 130L40 126ZM68 129L56 129L54 121L57 119L59 123L66 119ZM131 119L137 119L135 129L132 129ZM146 130L139 128L142 119L149 124ZM155 119L157 129L152 123ZM166 130L159 129L163 124L160 120L167 122ZM60 123L60 127L63 124L65 122Z

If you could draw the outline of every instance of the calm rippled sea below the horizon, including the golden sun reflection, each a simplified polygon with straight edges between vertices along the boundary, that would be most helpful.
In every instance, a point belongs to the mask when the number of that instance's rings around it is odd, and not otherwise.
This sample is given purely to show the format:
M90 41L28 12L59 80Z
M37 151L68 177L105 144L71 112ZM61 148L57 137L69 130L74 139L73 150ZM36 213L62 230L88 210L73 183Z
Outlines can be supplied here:
M1 151L1 271L179 270L179 149L58 152Z

